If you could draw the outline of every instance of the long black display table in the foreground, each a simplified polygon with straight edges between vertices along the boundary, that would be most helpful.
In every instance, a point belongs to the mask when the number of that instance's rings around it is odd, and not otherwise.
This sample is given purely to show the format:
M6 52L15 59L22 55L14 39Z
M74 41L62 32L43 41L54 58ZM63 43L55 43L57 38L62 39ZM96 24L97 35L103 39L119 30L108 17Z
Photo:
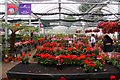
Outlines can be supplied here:
M47 66L37 63L31 64L18 64L7 72L9 79L26 79L32 80L59 80L60 77L65 77L67 80L80 80L80 79L108 79L111 75L120 76L120 71L112 65L104 65L106 72L89 72L86 73L80 66L64 65L61 70L56 66Z

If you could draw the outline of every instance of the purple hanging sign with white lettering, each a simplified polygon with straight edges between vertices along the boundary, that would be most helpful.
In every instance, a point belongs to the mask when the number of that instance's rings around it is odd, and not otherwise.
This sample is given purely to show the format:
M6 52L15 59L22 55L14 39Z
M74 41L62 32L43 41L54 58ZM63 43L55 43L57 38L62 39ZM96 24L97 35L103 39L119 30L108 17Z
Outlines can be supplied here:
M31 4L19 4L19 15L31 15Z

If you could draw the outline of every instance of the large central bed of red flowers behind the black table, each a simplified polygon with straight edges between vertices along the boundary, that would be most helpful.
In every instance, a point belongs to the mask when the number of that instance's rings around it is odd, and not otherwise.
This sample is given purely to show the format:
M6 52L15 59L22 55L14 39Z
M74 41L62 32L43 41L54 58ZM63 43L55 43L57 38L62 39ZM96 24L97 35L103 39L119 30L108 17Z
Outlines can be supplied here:
M37 46L36 60L45 65L80 65L86 70L102 69L103 64L111 62L120 68L120 59L114 54L100 54L99 48L91 48L86 43L68 41L46 42Z

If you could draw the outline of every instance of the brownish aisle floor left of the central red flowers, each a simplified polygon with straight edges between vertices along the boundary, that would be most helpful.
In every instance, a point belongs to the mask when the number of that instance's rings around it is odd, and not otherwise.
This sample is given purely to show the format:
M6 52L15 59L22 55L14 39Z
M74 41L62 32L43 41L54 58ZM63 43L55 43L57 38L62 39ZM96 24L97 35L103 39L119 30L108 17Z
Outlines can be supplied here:
M30 51L29 53L31 53L33 56L35 54L35 52L36 52L36 50L34 49L34 50ZM30 58L31 63L34 62L32 56ZM18 63L20 63L20 62L15 61L15 62L9 62L9 63L2 63L2 78L6 78L7 77L6 72L8 70L10 70L12 67L14 67L15 65L17 65Z

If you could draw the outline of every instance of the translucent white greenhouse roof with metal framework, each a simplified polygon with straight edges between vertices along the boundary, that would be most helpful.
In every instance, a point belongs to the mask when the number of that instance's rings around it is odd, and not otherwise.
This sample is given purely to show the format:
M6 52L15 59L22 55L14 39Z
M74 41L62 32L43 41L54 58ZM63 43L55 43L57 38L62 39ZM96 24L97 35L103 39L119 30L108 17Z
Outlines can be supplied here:
M106 20L119 20L118 2L119 0L8 0L8 3L31 3L32 14L29 15L8 15L8 21L24 20L38 22L38 19L47 19L51 21L65 22L94 22ZM0 2L0 19L5 20L5 1ZM81 12L79 6L81 4L92 4L86 11ZM101 11L102 13L97 13ZM73 16L76 20L64 20L66 16ZM91 19L91 16L96 16L97 20ZM102 17L101 17L102 16Z

